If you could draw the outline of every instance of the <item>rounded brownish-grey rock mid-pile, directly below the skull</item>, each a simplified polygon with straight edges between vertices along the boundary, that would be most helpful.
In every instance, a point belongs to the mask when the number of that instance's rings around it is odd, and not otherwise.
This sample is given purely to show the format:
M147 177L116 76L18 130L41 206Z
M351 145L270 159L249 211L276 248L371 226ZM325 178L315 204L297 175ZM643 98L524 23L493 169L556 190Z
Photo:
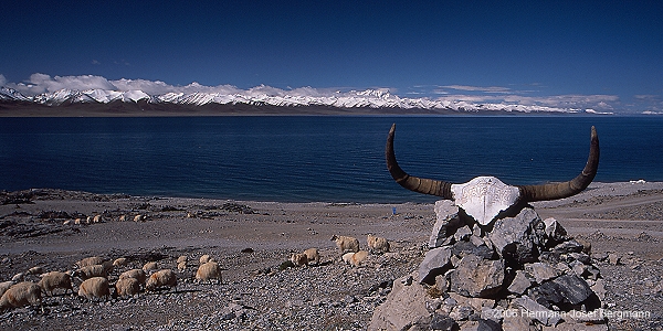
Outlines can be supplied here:
M504 260L483 259L466 255L451 273L451 290L466 296L486 298L502 289Z

